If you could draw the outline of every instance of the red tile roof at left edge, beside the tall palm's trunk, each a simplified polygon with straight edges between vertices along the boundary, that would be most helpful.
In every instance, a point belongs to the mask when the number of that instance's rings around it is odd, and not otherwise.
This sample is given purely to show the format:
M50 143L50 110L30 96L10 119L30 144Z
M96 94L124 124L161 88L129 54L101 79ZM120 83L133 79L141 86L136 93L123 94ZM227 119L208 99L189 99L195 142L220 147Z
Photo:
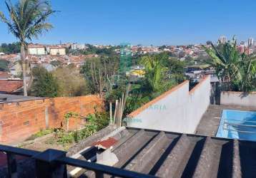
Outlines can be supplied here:
M23 87L22 80L0 80L0 91L11 93Z

